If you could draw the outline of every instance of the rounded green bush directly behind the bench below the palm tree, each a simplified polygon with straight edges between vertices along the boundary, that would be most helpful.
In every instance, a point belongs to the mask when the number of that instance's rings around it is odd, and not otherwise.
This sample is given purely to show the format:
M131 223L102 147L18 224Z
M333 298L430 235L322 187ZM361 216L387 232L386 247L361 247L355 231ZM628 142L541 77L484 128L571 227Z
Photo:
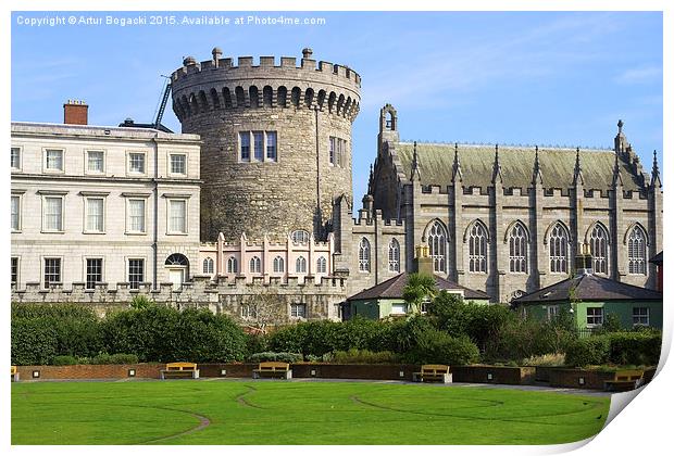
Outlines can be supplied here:
M479 359L479 350L467 337L452 338L432 329L416 338L416 346L405 356L417 364L467 365Z

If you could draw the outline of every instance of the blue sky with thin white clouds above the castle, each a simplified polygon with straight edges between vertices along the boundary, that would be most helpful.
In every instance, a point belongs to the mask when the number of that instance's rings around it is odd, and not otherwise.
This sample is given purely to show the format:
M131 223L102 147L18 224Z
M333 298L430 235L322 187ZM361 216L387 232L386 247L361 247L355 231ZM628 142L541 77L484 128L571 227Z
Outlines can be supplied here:
M662 14L659 12L338 12L314 26L27 26L55 15L161 13L14 12L13 121L62 122L84 99L89 121L150 122L163 78L184 55L301 56L346 64L363 78L353 126L354 199L376 155L378 111L389 102L402 139L611 147L619 118L650 170L662 160ZM251 13L171 12L184 15ZM279 13L274 13L277 15ZM266 16L266 13L258 13ZM164 124L179 131L171 109Z

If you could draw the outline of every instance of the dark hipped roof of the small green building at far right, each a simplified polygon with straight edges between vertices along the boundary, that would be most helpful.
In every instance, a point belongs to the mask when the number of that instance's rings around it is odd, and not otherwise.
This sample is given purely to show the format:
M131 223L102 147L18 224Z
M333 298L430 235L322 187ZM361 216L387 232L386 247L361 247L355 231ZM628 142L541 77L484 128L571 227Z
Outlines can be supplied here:
M534 291L511 301L512 305L571 301L662 301L662 292L635 287L594 274L581 275L562 280L550 287Z

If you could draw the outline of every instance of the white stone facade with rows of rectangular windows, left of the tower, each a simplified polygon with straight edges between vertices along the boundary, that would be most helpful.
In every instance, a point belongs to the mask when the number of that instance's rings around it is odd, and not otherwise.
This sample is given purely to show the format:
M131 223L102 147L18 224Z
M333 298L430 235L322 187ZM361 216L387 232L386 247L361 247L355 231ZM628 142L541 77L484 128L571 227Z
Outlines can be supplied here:
M13 288L187 281L199 147L153 129L12 123Z

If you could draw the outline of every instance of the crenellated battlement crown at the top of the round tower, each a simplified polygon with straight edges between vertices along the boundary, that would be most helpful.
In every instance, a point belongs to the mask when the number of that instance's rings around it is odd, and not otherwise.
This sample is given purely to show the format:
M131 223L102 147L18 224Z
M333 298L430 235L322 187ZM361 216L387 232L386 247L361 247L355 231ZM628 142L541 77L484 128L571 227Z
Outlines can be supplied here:
M188 56L171 75L173 109L178 119L216 110L251 107L317 109L355 119L360 111L361 77L345 65L303 58L252 56L213 59L198 63Z

